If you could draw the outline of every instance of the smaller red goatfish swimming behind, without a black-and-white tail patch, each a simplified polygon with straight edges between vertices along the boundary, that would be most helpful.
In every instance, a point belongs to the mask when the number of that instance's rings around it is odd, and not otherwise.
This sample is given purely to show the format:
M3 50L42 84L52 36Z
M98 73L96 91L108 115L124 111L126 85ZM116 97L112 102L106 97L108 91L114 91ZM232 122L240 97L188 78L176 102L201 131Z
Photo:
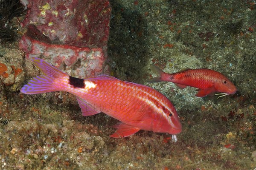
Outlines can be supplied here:
M173 74L165 73L155 65L151 65L151 69L154 74L157 74L157 77L148 79L147 82L173 82L180 89L187 86L195 87L198 88L198 93L195 95L198 97L212 96L215 92L221 92L221 94L215 95L227 96L235 94L237 91L236 86L227 77L207 68L188 69Z

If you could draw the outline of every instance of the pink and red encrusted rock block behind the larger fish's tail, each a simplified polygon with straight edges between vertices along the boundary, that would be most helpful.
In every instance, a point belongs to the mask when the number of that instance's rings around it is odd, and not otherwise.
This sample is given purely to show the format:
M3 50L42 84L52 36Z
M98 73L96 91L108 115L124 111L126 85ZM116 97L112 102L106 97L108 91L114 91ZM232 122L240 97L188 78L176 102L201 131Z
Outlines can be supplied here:
M103 71L111 14L108 0L29 0L27 8L21 26L28 31L19 43L26 58L44 58L80 78Z

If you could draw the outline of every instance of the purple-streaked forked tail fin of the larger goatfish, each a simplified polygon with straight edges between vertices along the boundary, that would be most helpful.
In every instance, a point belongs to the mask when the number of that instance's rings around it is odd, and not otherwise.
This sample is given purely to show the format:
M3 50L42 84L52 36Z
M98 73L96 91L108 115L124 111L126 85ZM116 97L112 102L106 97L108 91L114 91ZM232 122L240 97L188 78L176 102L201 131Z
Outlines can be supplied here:
M39 59L37 57L32 57L31 59L35 66L39 68L44 73L44 75L34 77L28 82L28 84L24 85L20 89L20 92L24 94L40 94L51 91L59 91L53 82L55 79L63 77L67 74L53 67L43 59Z

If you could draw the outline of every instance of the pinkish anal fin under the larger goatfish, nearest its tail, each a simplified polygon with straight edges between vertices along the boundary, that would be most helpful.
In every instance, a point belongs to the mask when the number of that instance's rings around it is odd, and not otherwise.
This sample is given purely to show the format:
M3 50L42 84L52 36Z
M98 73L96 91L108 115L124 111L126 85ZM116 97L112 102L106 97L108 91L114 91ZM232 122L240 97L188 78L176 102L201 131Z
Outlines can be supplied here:
M77 102L81 108L82 115L83 116L91 116L97 113L100 113L101 111L96 110L93 105L90 105L90 103L86 102L84 99L76 96Z

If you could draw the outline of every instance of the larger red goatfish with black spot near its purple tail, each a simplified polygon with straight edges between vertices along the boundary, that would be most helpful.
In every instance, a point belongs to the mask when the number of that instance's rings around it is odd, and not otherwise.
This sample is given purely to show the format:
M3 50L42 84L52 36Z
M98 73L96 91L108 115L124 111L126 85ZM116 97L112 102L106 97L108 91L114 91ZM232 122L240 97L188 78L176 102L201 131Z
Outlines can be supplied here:
M126 137L139 130L174 135L181 132L177 112L163 94L145 85L124 82L108 75L79 79L71 77L42 59L31 57L44 73L33 78L20 91L40 94L67 91L76 95L83 116L100 112L118 119L114 138Z

